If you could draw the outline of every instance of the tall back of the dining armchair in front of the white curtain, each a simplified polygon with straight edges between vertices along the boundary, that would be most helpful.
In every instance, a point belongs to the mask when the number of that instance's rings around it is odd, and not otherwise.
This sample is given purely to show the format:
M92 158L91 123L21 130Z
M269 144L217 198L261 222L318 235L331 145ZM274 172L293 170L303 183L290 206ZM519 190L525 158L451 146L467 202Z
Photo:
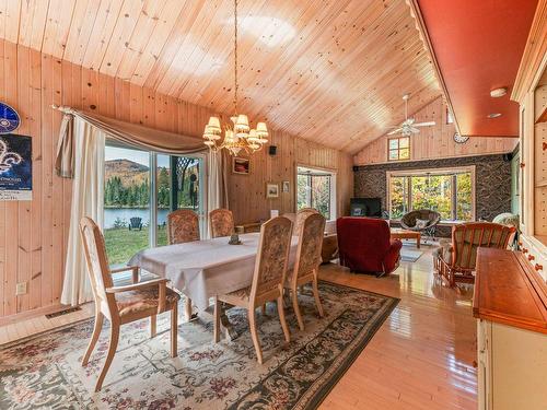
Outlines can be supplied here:
M95 303L106 302L106 288L112 288L113 281L103 234L97 224L86 216L80 221L80 233Z

